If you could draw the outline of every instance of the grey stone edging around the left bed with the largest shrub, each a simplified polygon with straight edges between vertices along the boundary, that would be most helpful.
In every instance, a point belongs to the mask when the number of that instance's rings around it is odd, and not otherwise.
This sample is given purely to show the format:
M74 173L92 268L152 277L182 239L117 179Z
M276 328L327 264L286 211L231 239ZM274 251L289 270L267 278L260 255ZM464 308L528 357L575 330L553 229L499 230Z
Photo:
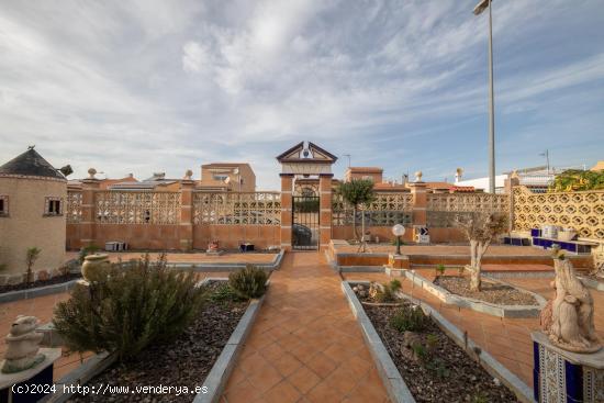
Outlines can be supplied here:
M199 284L205 284L209 281L225 281L225 278L205 278L203 281L200 281ZM267 281L267 286L270 284L270 280ZM260 311L266 298L262 295L258 300L250 300L249 305L247 306L244 315L239 320L239 323L231 334L231 337L226 342L226 345L222 349L219 358L212 366L210 373L203 382L203 387L208 388L208 393L199 393L193 402L195 403L214 403L217 402L222 395L226 381L231 376L235 361L238 354L254 325L254 321ZM44 398L41 402L45 403L63 403L71 398L72 393L63 393L63 384L85 384L90 381L97 374L101 373L104 369L111 366L118 356L114 354L101 352L91 357L88 361L82 363L80 367L76 368L71 372L67 373L60 380L56 382L57 390L60 390L60 393L55 393Z

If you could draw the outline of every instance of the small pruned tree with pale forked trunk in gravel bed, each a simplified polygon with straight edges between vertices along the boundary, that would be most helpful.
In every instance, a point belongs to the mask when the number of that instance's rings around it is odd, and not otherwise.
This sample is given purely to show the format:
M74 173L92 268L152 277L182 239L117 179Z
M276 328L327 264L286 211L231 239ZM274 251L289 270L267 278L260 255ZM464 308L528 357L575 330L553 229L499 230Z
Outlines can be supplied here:
M466 266L470 271L470 289L480 291L482 257L493 239L507 231L507 219L502 214L479 212L458 215L456 225L470 242L470 266Z

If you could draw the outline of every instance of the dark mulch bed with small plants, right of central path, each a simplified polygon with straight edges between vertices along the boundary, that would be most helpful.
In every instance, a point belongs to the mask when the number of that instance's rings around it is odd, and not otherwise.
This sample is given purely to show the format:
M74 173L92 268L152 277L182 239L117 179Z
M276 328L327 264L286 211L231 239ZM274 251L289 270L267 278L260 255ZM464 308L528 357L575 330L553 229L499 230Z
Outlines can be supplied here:
M359 300L374 303L370 298ZM400 302L412 306L406 300ZM405 339L404 333L391 324L401 306L363 304L363 309L416 402L517 402L512 391L494 380L432 318L425 317L423 328L413 332L414 345L424 346L422 352L405 347L411 334Z

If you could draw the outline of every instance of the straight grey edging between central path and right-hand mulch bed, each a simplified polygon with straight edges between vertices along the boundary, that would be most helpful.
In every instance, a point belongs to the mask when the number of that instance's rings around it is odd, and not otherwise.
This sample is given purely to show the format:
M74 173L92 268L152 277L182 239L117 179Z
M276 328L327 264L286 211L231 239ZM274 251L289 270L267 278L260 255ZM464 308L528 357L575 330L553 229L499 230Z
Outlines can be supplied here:
M355 283L361 282L363 281L355 281ZM371 321L365 313L361 303L355 295L348 281L342 281L342 291L346 295L348 305L361 328L362 337L369 347L371 357L373 357L373 361L376 362L376 367L378 368L378 372L380 373L380 378L382 379L390 400L396 403L415 403L415 399L413 399L403 377L401 377L380 335L376 332L373 324L371 324Z

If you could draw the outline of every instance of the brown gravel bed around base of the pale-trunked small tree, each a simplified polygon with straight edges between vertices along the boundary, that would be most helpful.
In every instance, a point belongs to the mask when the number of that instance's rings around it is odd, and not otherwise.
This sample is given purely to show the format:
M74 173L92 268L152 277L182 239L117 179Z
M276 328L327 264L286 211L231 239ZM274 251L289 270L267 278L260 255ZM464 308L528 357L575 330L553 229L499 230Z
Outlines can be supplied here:
M467 277L440 276L434 280L434 283L454 294L484 302L502 305L538 305L528 292L485 279L482 280L481 291L471 291Z

